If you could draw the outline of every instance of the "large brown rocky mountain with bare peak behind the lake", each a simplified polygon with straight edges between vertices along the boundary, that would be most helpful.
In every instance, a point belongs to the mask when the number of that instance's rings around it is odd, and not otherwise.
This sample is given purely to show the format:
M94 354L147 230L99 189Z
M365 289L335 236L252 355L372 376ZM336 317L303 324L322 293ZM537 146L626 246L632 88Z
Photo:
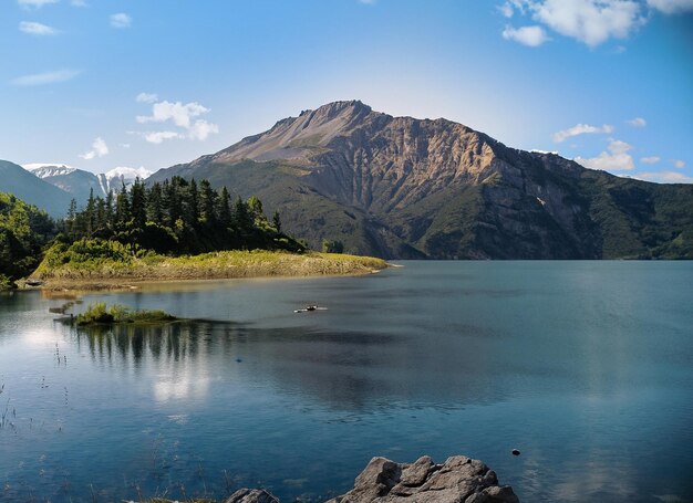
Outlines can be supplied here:
M335 102L163 169L278 210L313 247L384 258L693 258L693 186L586 169L443 118Z

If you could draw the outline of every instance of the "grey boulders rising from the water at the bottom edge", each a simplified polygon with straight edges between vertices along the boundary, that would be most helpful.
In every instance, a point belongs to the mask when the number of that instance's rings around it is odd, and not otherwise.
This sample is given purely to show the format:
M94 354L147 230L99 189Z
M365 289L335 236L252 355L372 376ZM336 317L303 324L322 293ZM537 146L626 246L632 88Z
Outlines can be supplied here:
M414 463L373 458L346 494L325 503L518 503L509 485L482 461L464 455L436 464L424 455ZM241 489L225 503L279 503L265 490Z

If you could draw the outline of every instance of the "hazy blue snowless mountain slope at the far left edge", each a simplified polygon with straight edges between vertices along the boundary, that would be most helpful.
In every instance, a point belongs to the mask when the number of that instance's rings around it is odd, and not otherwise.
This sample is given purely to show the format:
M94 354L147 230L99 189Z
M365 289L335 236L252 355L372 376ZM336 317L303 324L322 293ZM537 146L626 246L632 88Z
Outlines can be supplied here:
M70 193L8 160L0 160L0 192L12 193L52 217L64 217L72 199Z

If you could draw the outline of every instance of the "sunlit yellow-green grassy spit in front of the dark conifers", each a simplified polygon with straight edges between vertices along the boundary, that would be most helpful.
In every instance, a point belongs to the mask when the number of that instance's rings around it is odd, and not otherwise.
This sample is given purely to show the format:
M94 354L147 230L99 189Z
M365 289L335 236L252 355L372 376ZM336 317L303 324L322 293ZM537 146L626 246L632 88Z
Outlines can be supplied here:
M33 277L48 289L107 289L136 282L234 277L368 274L384 269L381 259L307 251L227 250L166 256L117 241L55 243Z

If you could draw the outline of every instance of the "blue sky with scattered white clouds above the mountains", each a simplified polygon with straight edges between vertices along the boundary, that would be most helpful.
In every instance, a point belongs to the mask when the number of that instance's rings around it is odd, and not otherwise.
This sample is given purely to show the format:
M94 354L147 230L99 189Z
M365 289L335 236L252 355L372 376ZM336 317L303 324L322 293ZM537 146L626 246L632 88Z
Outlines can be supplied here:
M693 182L693 0L0 0L0 158L156 170L361 99Z

